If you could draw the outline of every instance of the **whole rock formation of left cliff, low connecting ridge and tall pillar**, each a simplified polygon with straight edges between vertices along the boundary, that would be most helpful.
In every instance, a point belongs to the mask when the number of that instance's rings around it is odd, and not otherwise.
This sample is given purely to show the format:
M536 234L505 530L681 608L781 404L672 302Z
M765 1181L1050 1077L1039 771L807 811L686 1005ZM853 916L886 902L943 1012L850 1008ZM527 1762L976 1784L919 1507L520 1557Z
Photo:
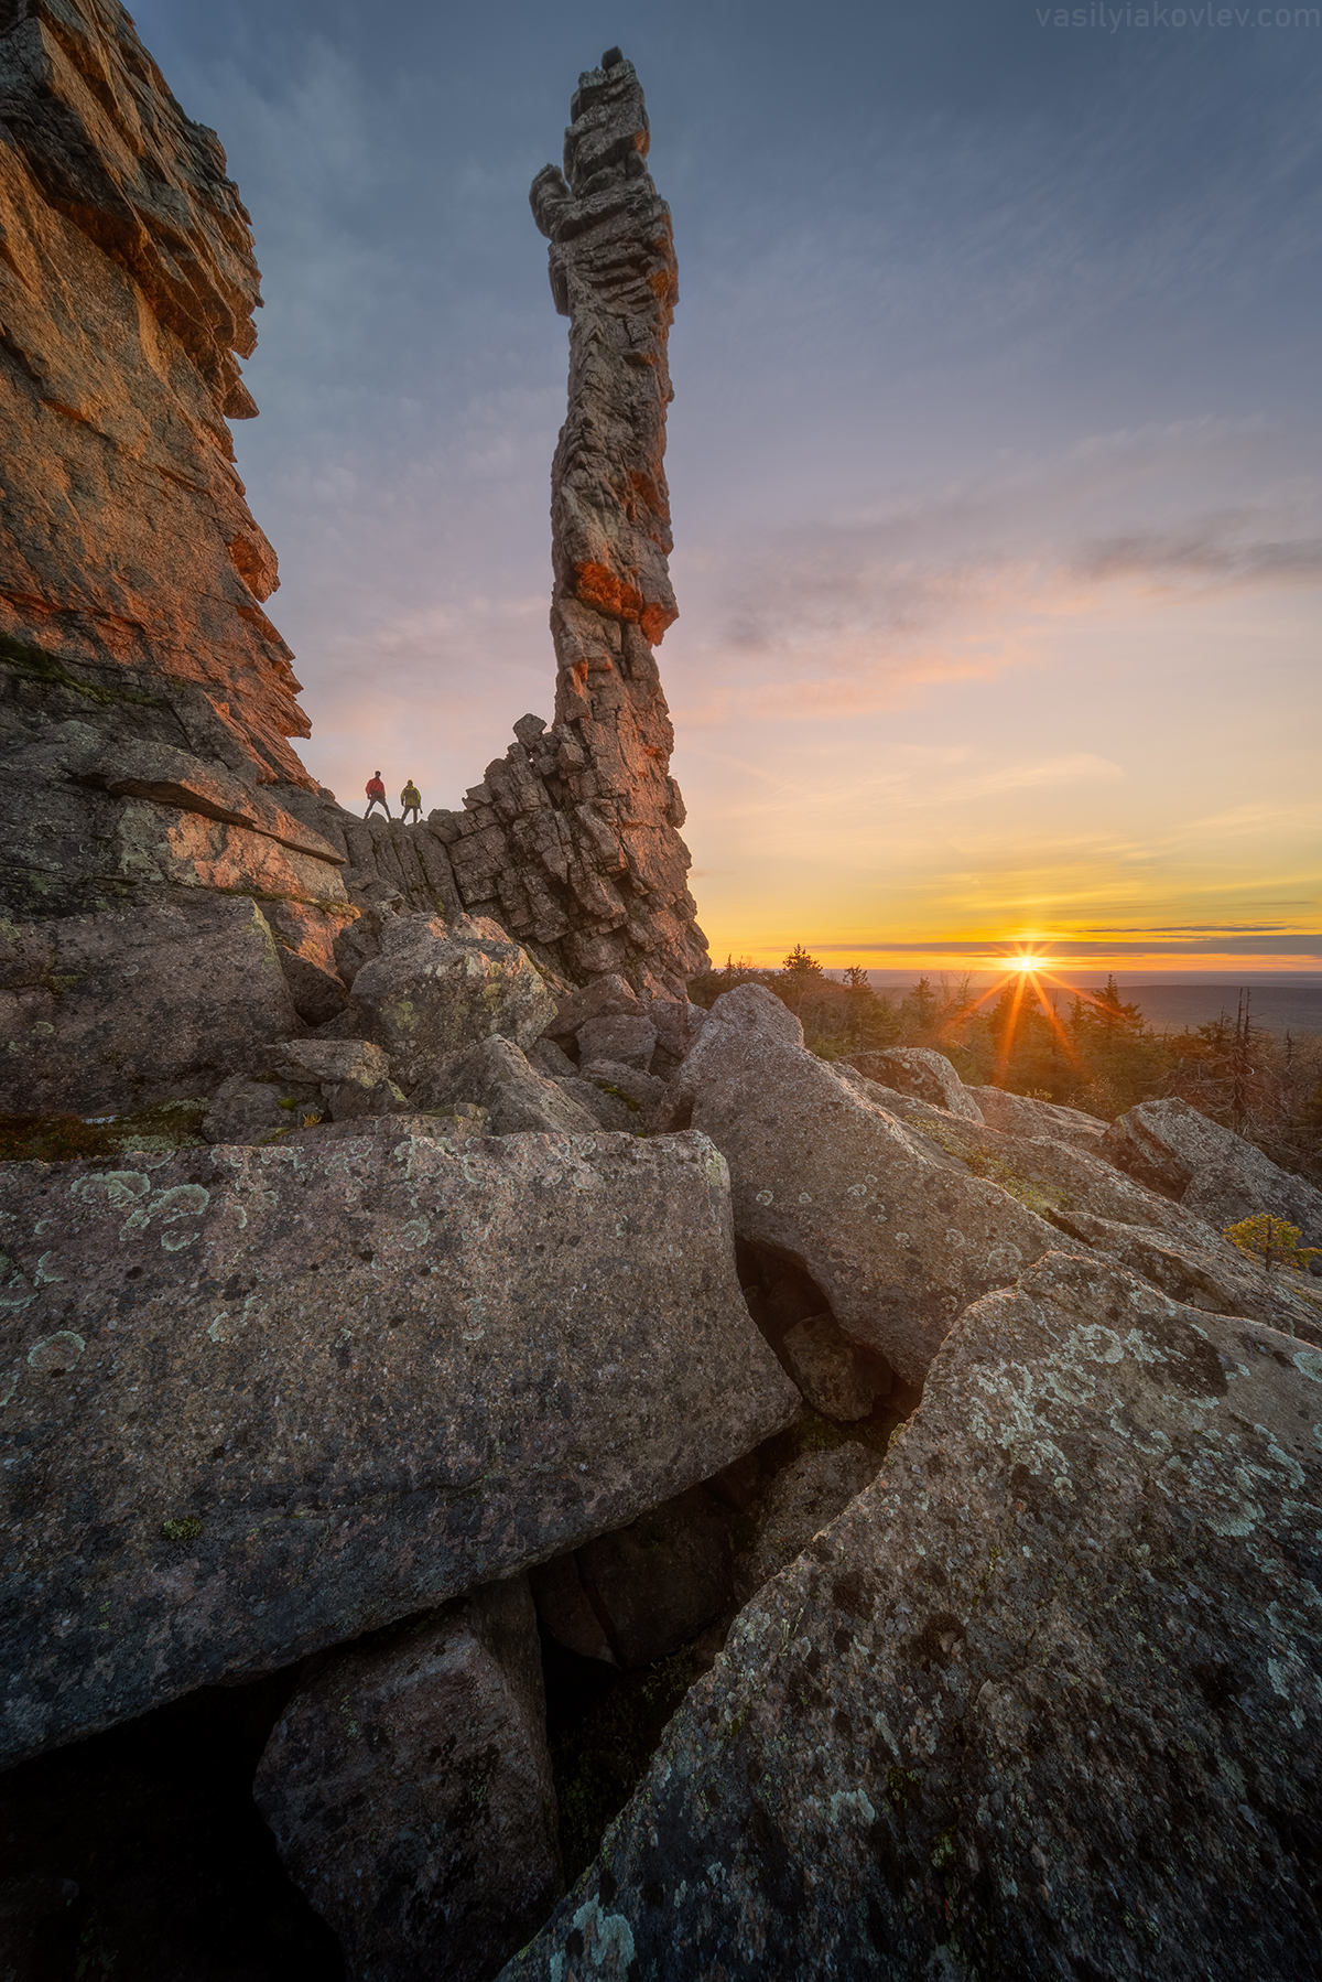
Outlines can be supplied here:
M117 0L0 0L0 1108L210 1096L343 1015L400 912L496 918L561 995L624 973L684 999L706 945L650 646L676 279L644 153L612 50L569 180L533 186L571 313L555 723L523 716L460 811L365 825L287 743L275 557L226 426L256 412L236 353L262 299L224 153Z

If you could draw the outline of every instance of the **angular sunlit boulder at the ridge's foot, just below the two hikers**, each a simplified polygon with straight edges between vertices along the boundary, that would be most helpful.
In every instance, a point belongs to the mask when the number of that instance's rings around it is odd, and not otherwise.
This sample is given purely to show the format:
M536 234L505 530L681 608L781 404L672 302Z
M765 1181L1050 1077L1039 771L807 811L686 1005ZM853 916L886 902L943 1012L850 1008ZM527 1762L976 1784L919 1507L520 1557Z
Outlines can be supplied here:
M381 955L353 979L353 1003L412 1092L424 1076L484 1039L531 1046L555 1017L551 993L523 949L486 918L390 916Z

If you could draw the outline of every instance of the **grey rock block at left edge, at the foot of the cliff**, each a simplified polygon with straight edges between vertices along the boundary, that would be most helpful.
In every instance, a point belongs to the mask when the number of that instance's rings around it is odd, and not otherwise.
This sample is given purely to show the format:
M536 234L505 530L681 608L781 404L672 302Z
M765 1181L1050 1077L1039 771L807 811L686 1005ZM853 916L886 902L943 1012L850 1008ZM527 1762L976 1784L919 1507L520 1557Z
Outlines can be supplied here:
M14 1114L210 1094L256 1046L299 1027L256 902L200 890L4 924L0 985Z

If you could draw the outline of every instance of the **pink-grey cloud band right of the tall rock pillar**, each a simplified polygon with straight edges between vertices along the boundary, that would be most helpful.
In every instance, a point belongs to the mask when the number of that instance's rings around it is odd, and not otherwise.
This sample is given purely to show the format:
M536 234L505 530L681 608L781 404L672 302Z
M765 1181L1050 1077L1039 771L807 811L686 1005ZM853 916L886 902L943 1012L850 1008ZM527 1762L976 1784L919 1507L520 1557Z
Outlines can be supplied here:
M676 716L712 727L894 708L932 684L1050 666L1066 622L1154 595L1179 608L1316 585L1322 484L1294 454L1263 418L1154 422L943 492L682 539ZM1221 488L1239 501L1209 507Z

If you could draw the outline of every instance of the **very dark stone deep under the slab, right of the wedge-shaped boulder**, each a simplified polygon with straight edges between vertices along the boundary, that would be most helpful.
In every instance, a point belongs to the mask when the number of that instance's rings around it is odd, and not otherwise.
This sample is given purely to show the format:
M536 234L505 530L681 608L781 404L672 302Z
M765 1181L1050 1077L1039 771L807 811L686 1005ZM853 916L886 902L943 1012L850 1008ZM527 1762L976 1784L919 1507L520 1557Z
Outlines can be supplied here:
M577 1552L583 1590L618 1665L654 1665L727 1611L729 1516L706 1486Z

